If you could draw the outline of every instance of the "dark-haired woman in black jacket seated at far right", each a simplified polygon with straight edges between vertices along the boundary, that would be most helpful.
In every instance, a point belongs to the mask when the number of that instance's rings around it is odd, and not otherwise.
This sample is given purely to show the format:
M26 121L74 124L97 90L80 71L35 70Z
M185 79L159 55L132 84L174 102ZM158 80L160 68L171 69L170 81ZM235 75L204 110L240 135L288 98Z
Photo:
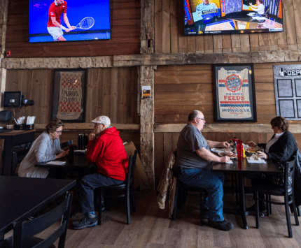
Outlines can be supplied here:
M267 144L255 144L253 141L249 142L248 145L251 147L262 147L265 152L258 152L258 155L263 159L272 160L274 162L285 163L290 160L291 156L297 152L296 140L290 131L288 131L288 122L281 116L274 117L271 120L272 129L274 135ZM274 178L265 175L262 180L270 180L273 183ZM258 178L252 178L258 180ZM296 184L297 185L297 184ZM294 187L295 188L295 187ZM296 194L295 194L296 195ZM262 196L261 196L262 197ZM297 201L297 200L296 200ZM260 212L265 211L265 204L259 202ZM255 211L255 205L248 208L249 212Z

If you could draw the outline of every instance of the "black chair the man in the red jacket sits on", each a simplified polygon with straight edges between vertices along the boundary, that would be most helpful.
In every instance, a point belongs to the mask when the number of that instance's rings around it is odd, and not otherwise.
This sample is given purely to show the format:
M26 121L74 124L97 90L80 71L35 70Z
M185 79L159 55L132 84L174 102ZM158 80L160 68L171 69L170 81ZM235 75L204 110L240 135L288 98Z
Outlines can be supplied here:
M136 166L137 150L134 156L129 157L129 166L127 168L127 178L123 184L110 185L97 188L99 207L98 207L98 225L102 224L102 198L127 198L127 224L130 225L130 200L132 201L132 210L136 212L135 195L134 195L134 171ZM116 194L116 191L122 191L121 194ZM110 194L112 193L112 194ZM115 194L114 194L115 193Z

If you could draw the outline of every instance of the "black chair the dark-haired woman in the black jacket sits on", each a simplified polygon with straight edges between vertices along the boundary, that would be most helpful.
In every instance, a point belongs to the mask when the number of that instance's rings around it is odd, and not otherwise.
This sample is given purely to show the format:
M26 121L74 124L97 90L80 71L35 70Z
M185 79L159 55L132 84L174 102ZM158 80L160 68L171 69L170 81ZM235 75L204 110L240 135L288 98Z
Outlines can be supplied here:
M294 172L295 172L295 156L292 160L287 161L284 165L283 171L283 185L276 186L272 184L268 184L263 180L258 180L255 182L252 187L255 191L255 208L256 208L256 228L259 228L259 205L258 201L262 200L267 203L267 210L270 210L270 205L285 205L286 207L286 222L288 226L288 237L293 238L292 227L290 223L290 208L288 205L293 204L293 212L295 216L295 224L299 226L299 220L297 217L297 208L295 205L295 197L294 197ZM258 198L258 193L263 193L267 197L266 198ZM283 196L284 202L271 200L272 196ZM268 211L269 212L269 211Z

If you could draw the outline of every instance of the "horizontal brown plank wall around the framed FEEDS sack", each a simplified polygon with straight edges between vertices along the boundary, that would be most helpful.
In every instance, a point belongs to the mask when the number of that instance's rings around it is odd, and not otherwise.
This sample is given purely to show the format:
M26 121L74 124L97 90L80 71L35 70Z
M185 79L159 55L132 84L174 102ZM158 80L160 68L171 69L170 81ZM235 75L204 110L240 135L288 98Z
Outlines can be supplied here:
M281 63L286 64L286 63ZM300 64L298 62L290 64ZM257 124L269 124L276 116L274 76L272 66L276 64L254 64L255 97L258 115ZM213 66L208 64L157 66L155 71L155 124L186 124L191 110L201 110L207 124L214 124L214 78ZM290 121L301 124L301 121ZM244 141L265 143L270 133L228 133L226 126L219 124L221 132L207 132L209 140L230 140L237 137ZM241 123L241 125L244 125ZM223 130L223 126L225 131ZM301 133L293 133L301 149ZM155 133L155 182L158 183L165 161L176 149L179 133Z

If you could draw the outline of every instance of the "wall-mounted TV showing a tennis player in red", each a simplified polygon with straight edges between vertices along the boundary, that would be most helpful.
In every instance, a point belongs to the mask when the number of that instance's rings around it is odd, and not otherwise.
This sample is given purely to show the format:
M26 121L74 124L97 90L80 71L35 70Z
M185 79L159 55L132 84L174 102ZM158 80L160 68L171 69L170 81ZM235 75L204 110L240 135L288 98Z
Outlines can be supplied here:
M29 0L29 43L110 38L110 0Z

